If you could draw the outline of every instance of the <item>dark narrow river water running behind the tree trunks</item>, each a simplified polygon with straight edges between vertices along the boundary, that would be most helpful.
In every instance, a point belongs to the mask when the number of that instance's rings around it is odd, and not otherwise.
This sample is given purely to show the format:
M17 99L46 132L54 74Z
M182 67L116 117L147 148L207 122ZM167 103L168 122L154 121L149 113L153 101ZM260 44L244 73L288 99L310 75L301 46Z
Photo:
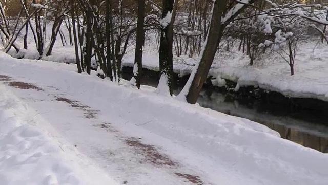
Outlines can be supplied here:
M122 75L126 80L131 77L130 74ZM142 84L156 87L158 81L147 78L142 79ZM178 93L179 90L175 89L174 94ZM328 114L308 110L287 111L281 105L264 105L260 101L250 104L248 100L234 100L213 90L203 90L197 102L202 107L266 125L277 131L283 139L328 153Z

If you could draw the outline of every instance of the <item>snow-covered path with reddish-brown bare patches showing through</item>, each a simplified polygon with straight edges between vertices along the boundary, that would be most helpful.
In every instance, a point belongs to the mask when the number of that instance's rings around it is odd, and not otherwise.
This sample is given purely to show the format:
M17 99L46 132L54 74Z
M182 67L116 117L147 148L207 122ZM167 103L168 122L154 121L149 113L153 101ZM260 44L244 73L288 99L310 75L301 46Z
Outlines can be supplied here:
M86 155L86 157L81 157L82 160L90 160L91 158L100 169L104 169L109 173L108 175L114 176L118 182L128 182L129 184L188 184L185 182L186 180L202 182L199 177L189 174L196 173L195 171L182 168L177 161L173 161L155 146L142 143L141 138L129 137L119 132L112 126L111 120L105 122L98 118L99 110L91 109L88 105L73 100L74 97L60 93L54 87L41 88L26 83L25 80L18 81L5 75L0 75L0 81L7 85L7 87L1 86L2 91L8 91L8 88L10 88L10 92L22 99L27 107L35 109L35 114L31 116L47 120L36 126L45 132L49 132L52 138L59 141L58 150L61 149L64 153L68 151L70 154L74 151L73 154L77 157ZM33 130L24 132L33 134ZM22 143L18 145L22 145ZM10 150L7 147L5 149ZM33 152L35 149L28 150ZM35 152L31 156L34 157L37 154L39 153ZM44 160L52 159L45 158ZM46 165L51 168L53 164L48 163ZM3 166L3 170L8 170L7 165ZM15 168L13 171L15 172ZM60 170L58 171L58 173L63 173ZM23 169L23 172L26 172L26 169ZM70 175L69 172L66 173L61 176L66 178ZM183 174L189 174L190 176ZM60 174L57 176L60 177ZM25 181L28 177L29 175L22 177L19 182ZM52 178L52 176L49 176L49 178ZM79 179L79 177L75 178ZM0 182L2 182L1 184L7 184L6 181L1 179ZM110 183L104 181L104 179L99 182L90 182L92 181L87 182L87 184ZM69 183L78 184L77 181L72 179ZM11 183L8 182L8 184ZM47 183L43 181L40 184ZM58 184L64 184L64 181L58 180Z

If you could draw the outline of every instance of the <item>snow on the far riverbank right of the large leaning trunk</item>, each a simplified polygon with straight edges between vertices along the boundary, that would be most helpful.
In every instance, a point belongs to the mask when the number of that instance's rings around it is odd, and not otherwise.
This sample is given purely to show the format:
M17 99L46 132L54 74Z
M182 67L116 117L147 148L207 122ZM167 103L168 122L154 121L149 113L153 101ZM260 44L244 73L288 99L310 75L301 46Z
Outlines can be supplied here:
M240 86L259 86L280 92L287 97L328 101L326 52L328 48L324 44L302 44L299 54L296 55L294 76L290 75L288 64L278 55L261 59L259 66L247 66L248 58L236 54L234 58L214 64L215 69L211 69L211 73L214 77L220 76L235 81Z

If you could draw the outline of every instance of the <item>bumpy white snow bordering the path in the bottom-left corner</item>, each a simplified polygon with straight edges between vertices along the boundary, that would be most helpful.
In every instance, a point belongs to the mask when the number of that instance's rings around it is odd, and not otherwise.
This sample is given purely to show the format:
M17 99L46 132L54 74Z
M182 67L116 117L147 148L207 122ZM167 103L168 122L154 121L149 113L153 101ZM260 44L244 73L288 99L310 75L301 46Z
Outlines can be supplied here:
M116 184L92 165L78 163L73 149L38 128L47 123L36 116L0 84L0 184Z

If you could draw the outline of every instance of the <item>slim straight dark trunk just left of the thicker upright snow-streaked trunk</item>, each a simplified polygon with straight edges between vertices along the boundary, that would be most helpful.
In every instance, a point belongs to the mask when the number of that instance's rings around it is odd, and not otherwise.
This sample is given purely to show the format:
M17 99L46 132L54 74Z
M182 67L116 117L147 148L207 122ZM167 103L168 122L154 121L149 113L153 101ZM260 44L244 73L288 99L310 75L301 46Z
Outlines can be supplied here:
M142 47L145 41L144 32L145 21L145 0L138 0L138 21L137 21L137 39L135 44L134 64L138 66L138 72L133 75L136 86L140 89L140 79L142 75Z

